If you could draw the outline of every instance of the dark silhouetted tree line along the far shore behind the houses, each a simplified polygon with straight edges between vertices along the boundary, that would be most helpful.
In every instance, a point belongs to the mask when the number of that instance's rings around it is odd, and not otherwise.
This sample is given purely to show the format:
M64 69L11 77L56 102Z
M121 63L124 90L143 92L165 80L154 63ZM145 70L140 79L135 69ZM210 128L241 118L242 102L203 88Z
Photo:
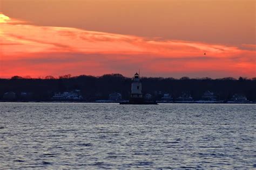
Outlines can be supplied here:
M173 98L182 93L190 94L194 100L200 100L206 90L212 91L217 100L229 100L234 94L245 95L249 101L256 101L256 77L247 79L239 77L226 77L223 79L211 79L209 77L190 79L181 77L141 77L143 93L151 94L155 100L159 100L164 93L170 93ZM59 77L46 76L42 79L32 79L29 76L13 76L11 79L0 79L0 100L4 93L13 91L18 101L51 101L55 93L78 89L83 96L83 101L106 100L109 94L117 92L122 94L124 100L129 100L131 90L131 78L121 74L105 74L103 76L63 75ZM21 93L30 94L22 98Z

